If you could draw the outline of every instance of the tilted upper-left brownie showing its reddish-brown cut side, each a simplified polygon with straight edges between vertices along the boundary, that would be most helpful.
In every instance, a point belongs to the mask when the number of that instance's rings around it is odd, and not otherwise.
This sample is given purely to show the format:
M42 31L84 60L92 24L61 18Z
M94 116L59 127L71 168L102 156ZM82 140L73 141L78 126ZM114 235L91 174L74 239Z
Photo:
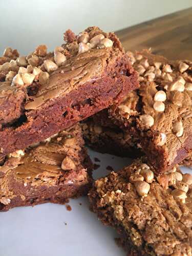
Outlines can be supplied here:
M1 157L120 102L139 86L114 33L68 30L65 40L54 52L39 45L18 56L7 48L0 58Z

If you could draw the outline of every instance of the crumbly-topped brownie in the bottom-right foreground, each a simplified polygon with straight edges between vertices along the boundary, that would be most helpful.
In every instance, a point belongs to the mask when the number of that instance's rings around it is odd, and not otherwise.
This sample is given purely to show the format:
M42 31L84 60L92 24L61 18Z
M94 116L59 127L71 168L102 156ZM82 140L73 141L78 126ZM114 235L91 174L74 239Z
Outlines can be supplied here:
M95 181L91 209L114 227L128 255L191 255L192 176L155 175L145 158Z

